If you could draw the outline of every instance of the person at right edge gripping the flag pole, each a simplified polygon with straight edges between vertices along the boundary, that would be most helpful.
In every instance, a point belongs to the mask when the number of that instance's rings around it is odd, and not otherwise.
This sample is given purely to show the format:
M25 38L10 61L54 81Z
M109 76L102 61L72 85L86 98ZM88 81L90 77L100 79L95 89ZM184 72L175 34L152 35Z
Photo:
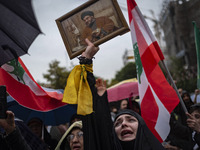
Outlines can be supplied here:
M187 113L187 125L193 130L194 150L200 149L200 104L191 106L190 114Z

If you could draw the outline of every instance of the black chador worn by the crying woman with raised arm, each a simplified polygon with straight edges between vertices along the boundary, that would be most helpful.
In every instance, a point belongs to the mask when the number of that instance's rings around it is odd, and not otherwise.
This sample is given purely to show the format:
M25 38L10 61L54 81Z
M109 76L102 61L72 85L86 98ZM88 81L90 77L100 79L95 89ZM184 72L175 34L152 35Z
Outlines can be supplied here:
M85 150L164 150L164 147L151 133L142 117L128 110L138 119L138 132L134 148L122 148L113 127L108 105L107 92L103 96L97 94L95 78L88 72L87 80L93 95L93 110L90 115L83 117L84 149Z

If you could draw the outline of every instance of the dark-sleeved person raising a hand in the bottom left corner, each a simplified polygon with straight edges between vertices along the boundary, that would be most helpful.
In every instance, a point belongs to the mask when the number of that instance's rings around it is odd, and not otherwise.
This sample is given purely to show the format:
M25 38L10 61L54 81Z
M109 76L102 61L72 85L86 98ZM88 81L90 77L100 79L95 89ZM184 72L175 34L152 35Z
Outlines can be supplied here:
M5 131L5 134L0 136L1 149L31 150L15 124L14 113L12 111L6 111L6 114L6 119L0 119L0 127Z

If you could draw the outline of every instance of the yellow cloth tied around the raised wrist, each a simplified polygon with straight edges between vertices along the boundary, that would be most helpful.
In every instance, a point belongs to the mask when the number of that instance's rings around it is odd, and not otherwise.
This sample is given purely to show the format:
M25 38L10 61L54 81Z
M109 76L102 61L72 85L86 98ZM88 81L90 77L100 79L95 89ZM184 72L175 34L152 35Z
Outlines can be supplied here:
M68 104L78 104L77 114L80 115L93 112L92 92L87 82L87 71L93 72L92 64L74 67L67 79L62 99Z

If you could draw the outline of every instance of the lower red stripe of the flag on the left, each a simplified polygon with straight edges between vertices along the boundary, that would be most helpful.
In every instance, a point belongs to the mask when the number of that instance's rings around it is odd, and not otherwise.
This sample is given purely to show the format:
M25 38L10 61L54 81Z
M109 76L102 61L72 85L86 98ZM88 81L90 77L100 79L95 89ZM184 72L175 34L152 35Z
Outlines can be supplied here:
M22 106L38 111L50 111L66 105L48 95L36 96L28 86L16 81L2 68L0 68L0 78L3 79L0 80L0 85L5 85L8 93Z

